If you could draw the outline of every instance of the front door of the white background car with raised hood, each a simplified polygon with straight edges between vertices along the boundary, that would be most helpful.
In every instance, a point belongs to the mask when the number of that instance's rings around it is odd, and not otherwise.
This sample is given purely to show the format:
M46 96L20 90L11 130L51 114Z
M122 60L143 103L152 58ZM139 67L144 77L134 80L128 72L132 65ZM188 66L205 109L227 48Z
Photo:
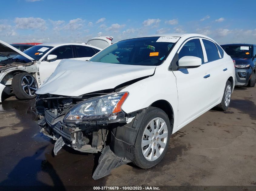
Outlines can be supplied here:
M48 61L47 56L49 54L56 55L57 58L55 60ZM41 84L54 72L55 68L58 66L62 59L75 59L71 45L59 46L52 50L52 52L49 54L45 56L39 65Z

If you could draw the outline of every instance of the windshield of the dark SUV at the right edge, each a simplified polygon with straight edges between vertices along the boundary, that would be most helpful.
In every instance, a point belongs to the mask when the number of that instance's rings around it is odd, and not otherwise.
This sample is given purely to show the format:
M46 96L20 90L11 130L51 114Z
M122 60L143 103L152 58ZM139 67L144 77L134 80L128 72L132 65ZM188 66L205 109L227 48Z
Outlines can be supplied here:
M231 45L231 46L221 46L221 47L231 57L252 58L251 46Z

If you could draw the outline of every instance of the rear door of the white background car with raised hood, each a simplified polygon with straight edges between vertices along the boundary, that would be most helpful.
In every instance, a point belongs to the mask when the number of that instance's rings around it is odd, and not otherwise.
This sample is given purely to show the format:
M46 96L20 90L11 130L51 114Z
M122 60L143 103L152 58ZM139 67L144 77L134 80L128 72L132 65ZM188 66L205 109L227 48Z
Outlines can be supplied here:
M73 47L75 49L76 59L78 60L88 60L96 54L95 50L89 46L73 45Z

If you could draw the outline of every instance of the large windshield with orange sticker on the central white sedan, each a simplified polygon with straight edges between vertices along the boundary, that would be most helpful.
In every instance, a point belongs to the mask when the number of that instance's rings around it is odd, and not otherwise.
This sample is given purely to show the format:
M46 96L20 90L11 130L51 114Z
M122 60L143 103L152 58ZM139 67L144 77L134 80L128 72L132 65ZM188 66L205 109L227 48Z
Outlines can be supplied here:
M161 37L143 37L119 41L93 56L91 62L128 65L160 65L175 43L162 42ZM176 37L174 37L176 38ZM176 42L177 40L175 40Z

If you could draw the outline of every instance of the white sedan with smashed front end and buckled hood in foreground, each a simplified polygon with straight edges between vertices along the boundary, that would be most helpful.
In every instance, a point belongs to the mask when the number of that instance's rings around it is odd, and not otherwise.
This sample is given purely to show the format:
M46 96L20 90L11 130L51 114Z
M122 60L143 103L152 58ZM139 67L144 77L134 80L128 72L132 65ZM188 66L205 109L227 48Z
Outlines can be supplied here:
M101 152L94 179L128 162L150 168L170 135L215 107L227 110L234 63L209 37L167 34L122 40L88 62L63 60L37 90L41 132Z

